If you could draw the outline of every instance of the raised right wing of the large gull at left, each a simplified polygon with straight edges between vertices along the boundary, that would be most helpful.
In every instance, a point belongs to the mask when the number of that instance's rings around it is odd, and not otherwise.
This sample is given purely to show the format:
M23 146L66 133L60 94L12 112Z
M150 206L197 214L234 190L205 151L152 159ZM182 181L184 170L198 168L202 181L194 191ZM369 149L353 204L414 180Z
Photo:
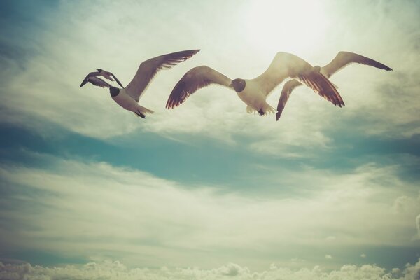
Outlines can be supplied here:
M192 57L199 51L200 50L183 50L181 52L160 55L142 62L136 75L125 88L127 94L130 94L130 96L138 102L141 94L146 90L146 87L159 70L170 69L180 62L186 61L186 59Z

